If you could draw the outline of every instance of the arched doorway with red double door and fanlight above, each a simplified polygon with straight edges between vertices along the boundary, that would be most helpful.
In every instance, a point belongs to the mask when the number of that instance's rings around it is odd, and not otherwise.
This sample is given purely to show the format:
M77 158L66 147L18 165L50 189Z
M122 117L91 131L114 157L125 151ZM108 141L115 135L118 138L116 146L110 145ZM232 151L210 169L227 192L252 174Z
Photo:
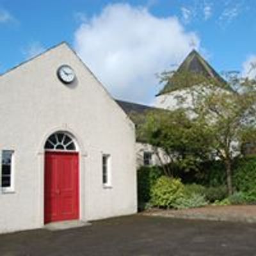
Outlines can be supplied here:
M44 222L79 218L79 150L67 132L45 142Z

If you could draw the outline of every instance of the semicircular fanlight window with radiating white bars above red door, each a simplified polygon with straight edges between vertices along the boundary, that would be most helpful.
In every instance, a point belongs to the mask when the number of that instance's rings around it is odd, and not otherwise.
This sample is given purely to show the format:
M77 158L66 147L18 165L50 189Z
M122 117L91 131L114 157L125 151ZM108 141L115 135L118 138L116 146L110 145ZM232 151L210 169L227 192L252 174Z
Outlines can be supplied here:
M56 132L48 138L44 148L48 150L76 150L76 144L68 134Z

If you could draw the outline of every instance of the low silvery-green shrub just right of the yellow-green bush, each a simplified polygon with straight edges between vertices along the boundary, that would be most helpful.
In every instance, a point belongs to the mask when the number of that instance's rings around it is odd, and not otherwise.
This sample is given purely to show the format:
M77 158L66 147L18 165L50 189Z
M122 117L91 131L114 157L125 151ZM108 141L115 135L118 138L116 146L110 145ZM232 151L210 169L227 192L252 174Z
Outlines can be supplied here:
M188 209L207 205L204 195L193 193L189 196L177 198L172 204L175 209Z

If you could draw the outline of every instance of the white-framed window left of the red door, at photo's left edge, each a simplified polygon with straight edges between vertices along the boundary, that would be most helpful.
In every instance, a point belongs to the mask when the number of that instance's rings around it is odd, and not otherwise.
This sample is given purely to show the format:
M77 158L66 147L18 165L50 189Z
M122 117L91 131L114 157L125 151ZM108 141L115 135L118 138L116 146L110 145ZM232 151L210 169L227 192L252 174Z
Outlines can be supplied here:
M2 151L2 190L13 191L13 151Z

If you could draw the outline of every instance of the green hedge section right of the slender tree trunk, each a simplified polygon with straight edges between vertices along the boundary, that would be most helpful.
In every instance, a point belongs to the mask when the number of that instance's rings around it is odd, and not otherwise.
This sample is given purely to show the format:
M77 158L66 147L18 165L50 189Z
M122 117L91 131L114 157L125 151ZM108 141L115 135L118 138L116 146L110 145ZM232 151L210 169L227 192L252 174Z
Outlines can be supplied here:
M233 182L237 191L249 192L256 188L256 157L237 161Z

